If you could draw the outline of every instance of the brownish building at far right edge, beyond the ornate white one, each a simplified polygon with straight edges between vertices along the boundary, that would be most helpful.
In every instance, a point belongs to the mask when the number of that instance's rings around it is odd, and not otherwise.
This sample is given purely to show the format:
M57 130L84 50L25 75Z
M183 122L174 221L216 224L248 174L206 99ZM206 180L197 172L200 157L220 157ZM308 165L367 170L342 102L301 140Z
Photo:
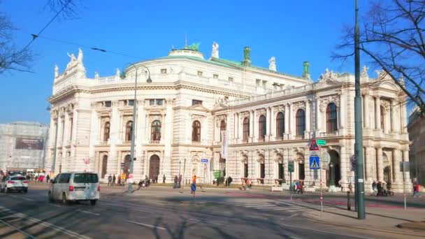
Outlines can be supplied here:
M425 118L419 108L414 108L409 117L410 176L425 185Z

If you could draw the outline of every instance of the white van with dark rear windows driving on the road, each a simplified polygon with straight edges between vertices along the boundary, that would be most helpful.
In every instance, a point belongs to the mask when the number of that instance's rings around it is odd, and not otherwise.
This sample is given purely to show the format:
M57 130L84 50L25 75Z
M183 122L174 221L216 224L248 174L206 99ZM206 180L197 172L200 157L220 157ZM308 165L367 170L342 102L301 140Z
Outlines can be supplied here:
M96 205L100 191L96 173L59 173L50 181L48 197L50 202L60 200L66 204L71 201L90 201L92 205Z

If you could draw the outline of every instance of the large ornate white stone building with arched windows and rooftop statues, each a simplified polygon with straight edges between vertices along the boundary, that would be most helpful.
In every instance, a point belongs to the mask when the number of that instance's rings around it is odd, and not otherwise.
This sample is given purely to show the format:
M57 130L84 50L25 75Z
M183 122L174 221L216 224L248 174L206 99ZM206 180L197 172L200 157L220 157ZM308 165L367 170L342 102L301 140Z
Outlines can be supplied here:
M171 182L184 174L212 182L212 172L222 171L233 182L280 184L288 182L294 160L292 179L317 186L322 175L326 184L347 189L354 175L354 75L326 69L312 82L308 62L302 76L293 76L278 72L274 57L261 68L251 64L250 48L243 55L242 61L220 59L214 43L204 59L188 47L136 62L125 74L117 69L94 78L86 76L82 51L71 55L64 71L55 67L49 99L50 137L56 140L48 156L55 173L88 170L105 180L128 172L136 103L135 180L166 175ZM385 180L400 190L399 162L409 160L410 143L405 96L384 72L369 78L366 67L361 87L366 187ZM319 156L330 167L321 171L310 171L312 138L326 140Z

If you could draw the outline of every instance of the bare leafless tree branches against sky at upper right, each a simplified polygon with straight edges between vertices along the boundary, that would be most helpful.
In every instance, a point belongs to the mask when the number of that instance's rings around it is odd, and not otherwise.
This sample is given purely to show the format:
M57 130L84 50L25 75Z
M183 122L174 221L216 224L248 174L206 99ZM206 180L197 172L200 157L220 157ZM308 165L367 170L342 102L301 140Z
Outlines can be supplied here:
M403 89L425 114L425 1L370 3L361 17L359 50ZM347 27L333 58L354 55L354 27Z

